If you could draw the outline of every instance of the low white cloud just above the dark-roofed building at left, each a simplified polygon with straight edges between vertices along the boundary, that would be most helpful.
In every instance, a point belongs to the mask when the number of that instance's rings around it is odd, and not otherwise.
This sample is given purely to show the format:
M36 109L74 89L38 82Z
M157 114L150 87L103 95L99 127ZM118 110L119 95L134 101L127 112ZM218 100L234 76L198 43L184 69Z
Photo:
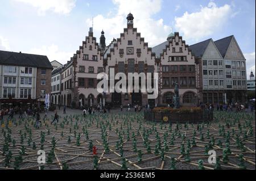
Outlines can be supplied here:
M46 55L49 61L57 60L61 62L61 64L66 64L73 56L73 52L61 52L59 47L55 44L48 47L42 46L40 48L33 48L27 53Z

